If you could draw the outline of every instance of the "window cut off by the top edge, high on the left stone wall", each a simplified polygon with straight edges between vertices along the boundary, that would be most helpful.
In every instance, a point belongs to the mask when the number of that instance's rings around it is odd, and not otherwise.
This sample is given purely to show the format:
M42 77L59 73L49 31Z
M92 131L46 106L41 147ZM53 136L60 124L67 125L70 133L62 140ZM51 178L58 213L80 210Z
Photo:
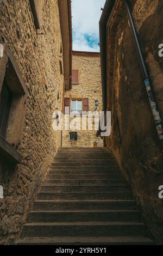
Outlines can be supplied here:
M30 0L35 28L40 29L42 23L42 7L44 0Z

